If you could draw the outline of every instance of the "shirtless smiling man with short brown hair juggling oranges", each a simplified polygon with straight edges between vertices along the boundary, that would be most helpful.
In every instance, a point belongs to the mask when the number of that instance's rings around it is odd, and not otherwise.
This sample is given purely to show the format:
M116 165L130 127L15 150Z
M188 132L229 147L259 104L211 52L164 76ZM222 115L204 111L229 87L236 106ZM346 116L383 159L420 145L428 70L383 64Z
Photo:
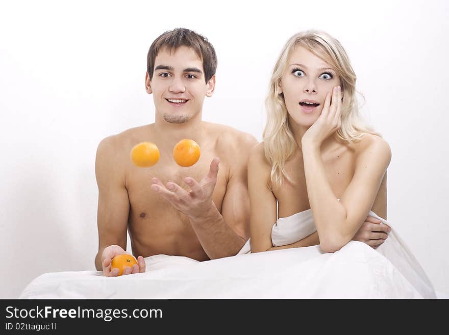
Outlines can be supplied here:
M167 254L206 261L235 255L249 237L247 158L257 140L231 127L202 121L205 96L215 89L216 55L202 36L176 29L149 48L145 88L153 94L155 123L109 136L98 145L98 253L106 276L115 255L126 253L127 229L138 265ZM201 157L191 167L172 158L174 145L192 139ZM140 142L153 142L159 162L139 168L130 159Z

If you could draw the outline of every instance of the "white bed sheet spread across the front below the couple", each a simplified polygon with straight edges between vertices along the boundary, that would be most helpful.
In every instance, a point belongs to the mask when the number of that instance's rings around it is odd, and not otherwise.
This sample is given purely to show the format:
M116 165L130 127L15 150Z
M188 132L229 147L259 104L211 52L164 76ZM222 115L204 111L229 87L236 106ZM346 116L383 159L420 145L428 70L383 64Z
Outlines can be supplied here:
M97 271L35 278L22 299L405 299L423 298L384 255L351 241L335 253L319 246L197 262L155 255L145 273L105 277Z

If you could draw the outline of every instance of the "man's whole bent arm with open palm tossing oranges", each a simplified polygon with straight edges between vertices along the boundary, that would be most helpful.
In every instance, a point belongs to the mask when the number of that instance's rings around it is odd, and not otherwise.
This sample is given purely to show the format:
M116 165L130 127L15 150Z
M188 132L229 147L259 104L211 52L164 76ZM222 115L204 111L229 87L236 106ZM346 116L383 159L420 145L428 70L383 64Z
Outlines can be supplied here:
M227 141L224 141L227 142ZM230 142L227 142L228 144ZM234 148L218 150L223 156L232 152L231 168L226 194L221 203L221 213L212 201L218 174L219 159L211 162L210 170L201 182L187 177L187 192L175 183L167 188L159 179L153 178L152 189L167 199L174 208L188 216L193 230L210 259L233 256L248 238L249 201L247 191L247 159L251 148L257 144L252 136L241 137Z

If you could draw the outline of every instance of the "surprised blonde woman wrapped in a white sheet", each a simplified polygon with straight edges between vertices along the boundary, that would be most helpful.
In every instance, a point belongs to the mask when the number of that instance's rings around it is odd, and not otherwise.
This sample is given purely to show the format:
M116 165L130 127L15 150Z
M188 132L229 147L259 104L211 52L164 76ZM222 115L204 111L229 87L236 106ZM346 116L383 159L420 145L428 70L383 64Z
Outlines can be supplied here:
M383 242L385 233L366 221L387 225L391 151L359 116L355 86L346 52L332 36L307 31L285 44L266 98L263 142L248 163L252 252L314 245L336 252L361 235L375 248ZM394 229L377 251L423 296L434 297Z

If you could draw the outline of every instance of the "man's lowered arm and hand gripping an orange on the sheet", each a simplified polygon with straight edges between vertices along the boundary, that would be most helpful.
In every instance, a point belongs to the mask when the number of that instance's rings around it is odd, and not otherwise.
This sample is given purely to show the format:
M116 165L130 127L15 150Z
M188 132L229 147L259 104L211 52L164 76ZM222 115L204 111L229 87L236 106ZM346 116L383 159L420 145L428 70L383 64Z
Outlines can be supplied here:
M114 136L102 140L98 145L95 159L95 176L98 185L98 253L95 256L95 268L103 271L105 275L114 275L110 271L112 258L117 254L127 253L130 204L128 191L124 185L124 168L120 165L116 141ZM109 252L105 254L106 248ZM143 262L140 258L139 267ZM124 274L135 273L136 270L139 272L139 269L130 270L125 271Z

